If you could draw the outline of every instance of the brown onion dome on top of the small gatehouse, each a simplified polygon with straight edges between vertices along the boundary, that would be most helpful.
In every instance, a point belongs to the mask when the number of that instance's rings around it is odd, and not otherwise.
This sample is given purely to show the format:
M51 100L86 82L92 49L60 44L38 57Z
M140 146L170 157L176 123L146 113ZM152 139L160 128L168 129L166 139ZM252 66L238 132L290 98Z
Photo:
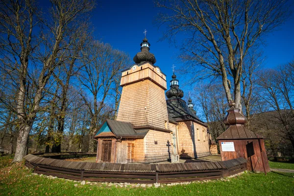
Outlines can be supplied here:
M240 109L235 108L235 103L230 101L229 106L230 109L227 110L228 114L224 118L223 123L226 125L245 124L247 119L240 113Z

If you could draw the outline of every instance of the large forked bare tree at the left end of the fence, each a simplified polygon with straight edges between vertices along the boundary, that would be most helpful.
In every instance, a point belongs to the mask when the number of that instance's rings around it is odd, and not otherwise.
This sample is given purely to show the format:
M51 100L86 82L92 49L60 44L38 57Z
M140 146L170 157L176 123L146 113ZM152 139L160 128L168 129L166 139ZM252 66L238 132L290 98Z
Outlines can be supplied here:
M1 46L4 49L1 62L9 66L10 71L17 72L19 80L17 106L19 136L17 140L14 162L22 161L26 154L26 146L31 127L40 109L44 89L60 62L70 49L71 43L65 42L76 30L75 26L84 13L89 12L94 2L92 0L51 0L50 15L41 18L37 14L37 7L32 0L1 1ZM74 23L73 23L74 22ZM43 24L44 28L36 30L36 24ZM40 40L34 33L40 33ZM78 37L78 35L76 35ZM37 51L38 47L40 50ZM32 53L34 52L35 58ZM5 62L3 59L12 59ZM34 59L34 61L30 60ZM32 70L31 67L33 67ZM35 70L34 70L35 69ZM6 74L9 74L10 71ZM30 74L36 89L32 104L26 107L26 91Z

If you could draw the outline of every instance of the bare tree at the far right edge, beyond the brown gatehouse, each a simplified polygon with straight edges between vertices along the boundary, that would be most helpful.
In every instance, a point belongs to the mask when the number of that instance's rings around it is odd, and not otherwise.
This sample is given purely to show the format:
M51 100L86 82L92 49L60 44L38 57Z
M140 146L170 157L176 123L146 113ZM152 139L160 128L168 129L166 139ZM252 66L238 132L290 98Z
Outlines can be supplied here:
M278 69L268 69L259 73L259 95L272 112L271 121L283 125L280 131L285 139L291 141L294 148L294 72L293 63L280 66ZM291 71L292 70L292 71Z

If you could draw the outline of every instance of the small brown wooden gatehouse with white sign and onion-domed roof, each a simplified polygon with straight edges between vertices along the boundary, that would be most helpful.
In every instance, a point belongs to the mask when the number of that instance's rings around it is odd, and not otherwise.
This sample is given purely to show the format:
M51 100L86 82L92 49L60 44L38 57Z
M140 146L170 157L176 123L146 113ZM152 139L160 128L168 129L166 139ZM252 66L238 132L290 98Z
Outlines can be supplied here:
M247 160L246 170L270 172L264 137L247 129L246 118L229 103L230 109L223 123L229 127L217 138L220 144L221 160L227 161L243 157Z

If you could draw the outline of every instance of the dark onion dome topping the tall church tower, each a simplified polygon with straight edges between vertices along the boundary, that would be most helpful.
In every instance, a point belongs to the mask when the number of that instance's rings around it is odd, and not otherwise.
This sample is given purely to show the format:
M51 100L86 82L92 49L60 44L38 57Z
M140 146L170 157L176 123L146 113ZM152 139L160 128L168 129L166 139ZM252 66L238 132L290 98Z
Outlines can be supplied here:
M150 44L147 38L145 37L143 39L143 42L141 43L141 52L138 52L133 58L135 63L139 64L146 61L152 64L156 63L154 54L149 52L149 47L150 47Z

